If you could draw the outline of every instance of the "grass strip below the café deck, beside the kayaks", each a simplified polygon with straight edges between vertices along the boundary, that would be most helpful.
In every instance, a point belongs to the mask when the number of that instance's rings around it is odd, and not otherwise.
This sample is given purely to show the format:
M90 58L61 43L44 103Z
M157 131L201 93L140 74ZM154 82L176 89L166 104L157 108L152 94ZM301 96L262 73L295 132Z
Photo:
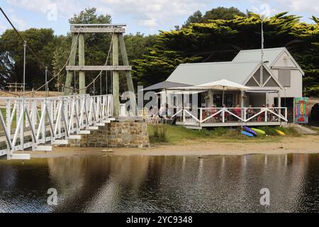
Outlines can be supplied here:
M194 130L184 128L183 126L170 126L170 125L148 125L148 133L150 135L150 143L156 144L172 144L181 145L189 142L272 142L274 140L281 140L284 136L276 133L276 129L283 131L287 136L299 136L293 128L281 127L256 127L264 130L267 135L259 135L254 138L247 137L240 134L241 128L230 127L216 127L211 129ZM162 131L164 135L159 135ZM163 139L164 138L164 139Z

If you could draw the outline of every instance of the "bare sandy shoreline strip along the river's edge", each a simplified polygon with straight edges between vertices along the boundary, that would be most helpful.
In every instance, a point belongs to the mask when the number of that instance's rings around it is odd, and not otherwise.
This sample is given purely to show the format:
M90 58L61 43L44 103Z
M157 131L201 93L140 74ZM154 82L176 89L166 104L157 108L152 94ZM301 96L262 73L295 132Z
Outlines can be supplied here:
M276 141L185 141L184 145L157 145L151 148L77 148L54 147L50 152L25 151L31 158L79 157L109 155L147 155L147 156L206 156L206 155L283 155L288 153L319 153L318 136L307 135L298 138L282 138ZM18 152L21 153L21 152Z

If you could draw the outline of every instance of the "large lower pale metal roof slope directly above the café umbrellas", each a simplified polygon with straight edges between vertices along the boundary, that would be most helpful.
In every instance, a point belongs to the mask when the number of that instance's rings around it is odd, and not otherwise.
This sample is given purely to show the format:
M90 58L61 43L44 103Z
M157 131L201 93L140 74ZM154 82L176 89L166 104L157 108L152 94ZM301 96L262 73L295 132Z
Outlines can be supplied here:
M198 85L220 79L243 84L260 62L207 62L179 65L167 78L169 82Z

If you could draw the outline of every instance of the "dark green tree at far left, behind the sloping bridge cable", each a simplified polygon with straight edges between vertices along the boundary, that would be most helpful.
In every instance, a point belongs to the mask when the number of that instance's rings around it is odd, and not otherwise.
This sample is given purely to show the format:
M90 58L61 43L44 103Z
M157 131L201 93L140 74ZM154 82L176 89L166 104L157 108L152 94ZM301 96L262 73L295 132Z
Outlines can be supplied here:
M52 53L55 46L55 35L52 29L30 28L21 32L21 36L34 50L42 62L52 69ZM0 77L1 85L6 82L23 82L23 42L11 29L0 37ZM38 87L45 82L45 69L36 57L26 50L26 88Z

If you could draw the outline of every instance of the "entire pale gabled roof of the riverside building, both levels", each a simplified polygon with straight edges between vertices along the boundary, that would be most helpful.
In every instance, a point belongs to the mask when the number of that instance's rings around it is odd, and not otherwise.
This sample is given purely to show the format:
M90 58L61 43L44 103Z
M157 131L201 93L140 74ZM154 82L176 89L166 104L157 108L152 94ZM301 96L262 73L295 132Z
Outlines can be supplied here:
M298 70L304 74L296 60L290 55L286 48L266 48L264 49L264 67L274 78L275 82L280 82L271 70L275 62L286 52L296 65ZM260 67L261 50L241 50L231 62L206 62L188 63L179 65L167 78L167 82L177 82L182 84L198 85L213 82L220 79L228 79L238 84L245 84L252 74ZM265 62L267 61L267 62ZM281 87L282 89L282 87Z

